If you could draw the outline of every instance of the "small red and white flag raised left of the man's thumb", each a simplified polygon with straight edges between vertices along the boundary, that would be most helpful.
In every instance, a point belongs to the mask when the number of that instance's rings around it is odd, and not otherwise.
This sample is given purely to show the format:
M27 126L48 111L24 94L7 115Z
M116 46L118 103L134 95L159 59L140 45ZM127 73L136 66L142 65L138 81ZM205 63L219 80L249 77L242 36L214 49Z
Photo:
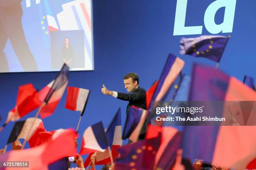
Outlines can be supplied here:
M89 94L90 90L78 87L68 87L65 107L69 110L80 111L83 113Z

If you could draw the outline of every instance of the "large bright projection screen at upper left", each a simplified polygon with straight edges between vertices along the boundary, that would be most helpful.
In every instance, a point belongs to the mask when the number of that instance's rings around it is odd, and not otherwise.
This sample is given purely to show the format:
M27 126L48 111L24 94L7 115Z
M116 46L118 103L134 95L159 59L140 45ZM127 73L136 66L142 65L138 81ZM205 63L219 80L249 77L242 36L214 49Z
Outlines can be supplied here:
M0 72L94 70L91 0L0 0Z

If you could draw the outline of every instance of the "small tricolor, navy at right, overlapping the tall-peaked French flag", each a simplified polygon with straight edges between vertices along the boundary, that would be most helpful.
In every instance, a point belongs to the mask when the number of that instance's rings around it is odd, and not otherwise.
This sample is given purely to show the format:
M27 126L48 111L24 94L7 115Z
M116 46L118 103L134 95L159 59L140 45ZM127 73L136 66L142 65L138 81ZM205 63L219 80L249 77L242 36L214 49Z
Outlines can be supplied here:
M79 154L84 155L96 151L104 152L106 148L108 148L108 142L102 122L97 122L94 125L89 126L84 131Z

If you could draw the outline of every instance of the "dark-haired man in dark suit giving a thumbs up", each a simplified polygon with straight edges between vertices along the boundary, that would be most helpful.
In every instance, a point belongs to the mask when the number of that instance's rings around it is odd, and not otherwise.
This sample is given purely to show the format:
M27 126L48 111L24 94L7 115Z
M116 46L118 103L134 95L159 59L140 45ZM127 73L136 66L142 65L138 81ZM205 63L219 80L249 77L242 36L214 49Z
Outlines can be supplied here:
M138 75L136 73L128 73L123 77L123 83L125 84L125 89L127 92L131 93L110 91L105 87L105 85L103 85L101 91L104 95L112 95L113 97L116 97L120 100L129 101L126 108L126 115L128 114L130 107L133 105L142 109L146 109L146 91L138 85ZM146 123L143 125L139 139L144 139L145 133Z

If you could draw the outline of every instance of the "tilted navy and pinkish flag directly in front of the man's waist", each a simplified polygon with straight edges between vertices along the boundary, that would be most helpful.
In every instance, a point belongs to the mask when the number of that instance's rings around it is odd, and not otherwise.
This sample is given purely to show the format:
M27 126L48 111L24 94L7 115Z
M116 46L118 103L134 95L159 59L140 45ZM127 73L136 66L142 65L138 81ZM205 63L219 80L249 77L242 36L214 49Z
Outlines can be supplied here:
M138 107L130 107L125 120L123 139L129 138L132 142L137 142L147 115L148 110Z

